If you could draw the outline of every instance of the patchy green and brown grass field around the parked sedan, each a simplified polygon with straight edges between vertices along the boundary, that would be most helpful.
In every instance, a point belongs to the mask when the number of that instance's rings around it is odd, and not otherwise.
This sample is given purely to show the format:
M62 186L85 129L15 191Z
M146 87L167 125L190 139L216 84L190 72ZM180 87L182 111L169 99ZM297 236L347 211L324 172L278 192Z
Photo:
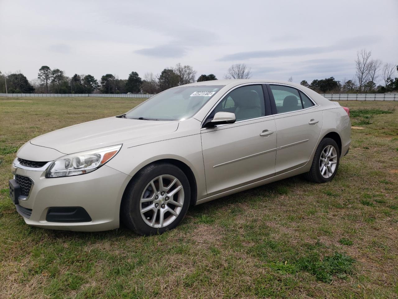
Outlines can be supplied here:
M139 102L0 98L0 298L398 297L398 102L341 102L355 128L330 183L205 203L160 236L27 226L8 198L17 149Z

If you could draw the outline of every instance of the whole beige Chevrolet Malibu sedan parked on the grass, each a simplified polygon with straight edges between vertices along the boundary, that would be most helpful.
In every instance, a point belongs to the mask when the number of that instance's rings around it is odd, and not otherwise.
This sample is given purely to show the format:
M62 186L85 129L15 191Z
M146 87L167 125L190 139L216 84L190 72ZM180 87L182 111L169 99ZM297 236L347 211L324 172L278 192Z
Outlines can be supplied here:
M33 226L162 233L191 205L302 173L331 181L350 135L349 109L301 85L192 83L33 138L12 164L10 196Z

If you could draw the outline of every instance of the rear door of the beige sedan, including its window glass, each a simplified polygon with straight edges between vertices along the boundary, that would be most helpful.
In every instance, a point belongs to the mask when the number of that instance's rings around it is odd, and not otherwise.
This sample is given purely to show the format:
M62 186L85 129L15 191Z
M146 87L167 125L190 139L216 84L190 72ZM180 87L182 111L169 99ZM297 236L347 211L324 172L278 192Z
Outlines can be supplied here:
M285 85L268 85L278 131L275 175L305 165L322 129L322 110L306 94Z

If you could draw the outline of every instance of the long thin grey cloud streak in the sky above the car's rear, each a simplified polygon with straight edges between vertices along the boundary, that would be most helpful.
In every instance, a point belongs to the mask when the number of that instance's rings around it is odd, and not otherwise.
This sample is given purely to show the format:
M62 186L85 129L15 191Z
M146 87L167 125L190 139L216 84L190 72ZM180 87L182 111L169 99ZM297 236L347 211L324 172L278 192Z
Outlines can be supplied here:
M275 58L283 56L301 56L309 54L328 53L338 50L358 49L358 47L361 47L363 45L375 43L378 41L378 39L379 38L377 36L359 36L350 39L342 39L331 46L238 52L225 55L224 57L217 59L217 61L246 60L252 58Z

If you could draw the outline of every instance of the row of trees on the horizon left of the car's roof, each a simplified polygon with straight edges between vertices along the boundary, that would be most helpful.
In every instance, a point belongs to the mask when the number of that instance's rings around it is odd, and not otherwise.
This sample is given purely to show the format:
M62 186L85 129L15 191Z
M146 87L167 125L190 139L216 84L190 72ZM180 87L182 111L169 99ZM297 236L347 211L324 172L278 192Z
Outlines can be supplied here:
M213 74L202 74L190 65L177 63L174 67L164 69L159 75L146 73L144 79L132 71L127 79L119 79L116 75L105 74L97 80L92 75L74 74L68 77L60 69L51 69L43 65L37 79L28 81L20 72L3 75L0 72L0 92L8 93L93 93L107 94L147 93L155 94L171 87L193 83L195 81L217 80Z

